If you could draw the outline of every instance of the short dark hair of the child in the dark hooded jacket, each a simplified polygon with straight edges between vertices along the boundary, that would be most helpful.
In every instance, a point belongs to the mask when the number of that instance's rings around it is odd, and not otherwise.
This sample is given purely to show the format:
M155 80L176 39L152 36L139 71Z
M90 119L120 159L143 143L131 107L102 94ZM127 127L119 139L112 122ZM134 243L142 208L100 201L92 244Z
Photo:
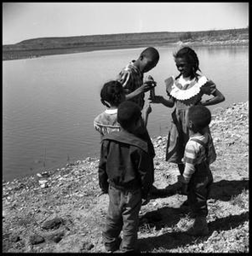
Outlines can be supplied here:
M117 122L128 130L129 127L140 119L140 107L131 101L122 102L117 108Z

